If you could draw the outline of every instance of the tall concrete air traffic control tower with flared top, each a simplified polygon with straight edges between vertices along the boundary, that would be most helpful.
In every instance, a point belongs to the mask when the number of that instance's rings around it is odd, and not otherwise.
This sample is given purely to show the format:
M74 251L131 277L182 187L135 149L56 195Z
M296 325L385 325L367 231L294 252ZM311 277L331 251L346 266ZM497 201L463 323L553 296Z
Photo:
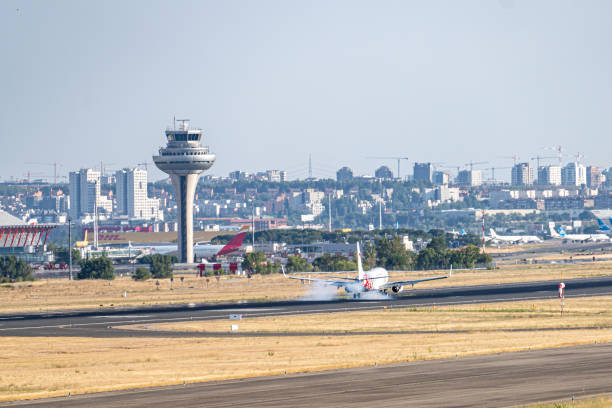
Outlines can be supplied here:
M176 128L176 122L180 123ZM168 144L153 156L155 165L168 173L174 184L178 209L179 262L193 263L193 197L198 178L215 162L216 156L202 146L202 130L189 129L189 120L177 120L166 129Z

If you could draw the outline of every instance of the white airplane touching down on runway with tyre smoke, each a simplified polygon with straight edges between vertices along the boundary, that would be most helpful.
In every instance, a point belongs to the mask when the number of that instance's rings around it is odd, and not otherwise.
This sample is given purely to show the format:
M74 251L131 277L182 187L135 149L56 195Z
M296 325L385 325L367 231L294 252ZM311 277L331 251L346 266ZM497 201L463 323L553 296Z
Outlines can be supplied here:
M420 282L448 278L448 276L436 276L433 278L389 282L389 272L387 272L385 268L376 267L369 271L363 270L359 242L357 242L355 257L357 258L357 277L355 278L339 276L332 276L331 279L302 278L298 276L287 276L284 267L282 267L281 270L283 271L283 276L287 279L297 279L302 282L316 282L328 286L335 286L336 288L343 288L347 293L352 293L354 299L361 297L360 295L365 292L378 291L387 293L387 291L390 290L393 293L400 293L404 290L404 286L414 287L415 284Z

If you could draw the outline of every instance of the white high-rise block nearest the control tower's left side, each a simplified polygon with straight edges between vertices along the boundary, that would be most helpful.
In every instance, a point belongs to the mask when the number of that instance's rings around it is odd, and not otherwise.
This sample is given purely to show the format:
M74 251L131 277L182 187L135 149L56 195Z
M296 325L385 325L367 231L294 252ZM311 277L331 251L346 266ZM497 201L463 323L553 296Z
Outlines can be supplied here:
M115 173L117 212L131 219L159 219L159 200L147 195L147 171L123 169Z

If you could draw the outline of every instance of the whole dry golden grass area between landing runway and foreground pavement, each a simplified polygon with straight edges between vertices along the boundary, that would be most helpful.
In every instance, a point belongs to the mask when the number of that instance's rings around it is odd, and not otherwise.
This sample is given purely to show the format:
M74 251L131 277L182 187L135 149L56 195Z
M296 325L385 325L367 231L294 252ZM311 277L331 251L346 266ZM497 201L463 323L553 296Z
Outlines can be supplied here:
M0 400L612 342L612 297L245 319L240 331L327 334L227 338L4 337ZM235 322L234 322L235 323ZM156 325L229 330L229 321ZM567 327L593 326L582 330ZM546 327L545 331L512 331ZM599 328L597 328L599 327ZM457 333L385 334L399 330ZM368 330L371 333L359 334ZM338 335L339 331L356 334ZM336 332L336 334L332 333ZM537 333L537 334L534 334ZM372 344L378 347L372 348ZM364 353L364 350L368 350ZM316 351L316 352L315 352Z

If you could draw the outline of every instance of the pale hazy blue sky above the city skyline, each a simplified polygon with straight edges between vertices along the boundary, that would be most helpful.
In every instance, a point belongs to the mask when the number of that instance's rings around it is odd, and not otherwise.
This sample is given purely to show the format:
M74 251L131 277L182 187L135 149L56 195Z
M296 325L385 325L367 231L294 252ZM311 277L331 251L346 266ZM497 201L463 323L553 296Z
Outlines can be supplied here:
M611 15L609 1L5 0L0 180L53 174L25 162L151 162L174 115L204 130L216 175L304 178L309 153L315 176L395 171L368 156L408 156L404 174L509 166L555 145L609 167Z

